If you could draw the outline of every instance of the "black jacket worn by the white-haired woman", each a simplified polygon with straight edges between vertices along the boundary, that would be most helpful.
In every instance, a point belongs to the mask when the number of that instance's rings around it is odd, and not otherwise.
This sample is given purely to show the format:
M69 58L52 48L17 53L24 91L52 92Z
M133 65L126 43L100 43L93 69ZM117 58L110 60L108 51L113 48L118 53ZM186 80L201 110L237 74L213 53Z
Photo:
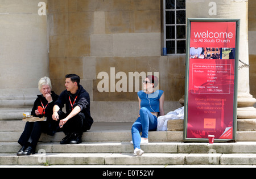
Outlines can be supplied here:
M55 104L55 102L57 101L58 99L58 95L56 95L56 93L54 91L51 91L51 96L52 96L52 103L49 103L48 104L48 101L46 100L46 98L43 96L43 95L38 95L38 98L35 100L35 103L34 103L34 106L32 108L32 111L31 111L31 115L34 116L34 117L39 117L39 118L42 118L43 116L47 118L47 129L43 129L43 131L46 131L47 134L49 135L54 135L56 133L56 131L59 130L59 122L57 121L53 121L52 120L52 109L53 109L53 106ZM46 114L44 115L39 115L39 116L36 116L35 114L35 110L38 109L38 106L42 106L41 104L41 101L44 105L44 107L46 107ZM43 106L42 106L43 107Z

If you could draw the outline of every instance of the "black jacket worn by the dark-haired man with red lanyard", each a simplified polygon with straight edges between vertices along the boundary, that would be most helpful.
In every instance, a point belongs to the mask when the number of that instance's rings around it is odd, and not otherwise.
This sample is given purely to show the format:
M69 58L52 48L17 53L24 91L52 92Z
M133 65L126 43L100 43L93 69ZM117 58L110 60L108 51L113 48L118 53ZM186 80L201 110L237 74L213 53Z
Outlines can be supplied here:
M71 102L69 101L69 97L71 99ZM58 105L60 108L64 108L64 105L66 105L66 112L68 115L73 110L71 103L74 103L73 108L75 108L76 106L79 106L81 108L81 113L85 114L85 121L82 127L84 131L89 130L93 123L93 118L90 116L90 96L89 93L85 91L81 85L79 85L79 89L74 95L67 90L61 92L59 99L55 102L55 105Z

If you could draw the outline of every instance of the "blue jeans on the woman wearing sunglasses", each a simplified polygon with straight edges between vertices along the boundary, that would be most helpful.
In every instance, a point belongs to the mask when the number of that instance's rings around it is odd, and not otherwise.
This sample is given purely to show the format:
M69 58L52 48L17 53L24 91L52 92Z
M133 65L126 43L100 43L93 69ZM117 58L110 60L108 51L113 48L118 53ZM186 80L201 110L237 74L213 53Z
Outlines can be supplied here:
M148 138L148 131L154 131L158 127L158 118L151 114L147 108L141 108L139 115L140 117L131 127L134 149L141 148L141 138Z

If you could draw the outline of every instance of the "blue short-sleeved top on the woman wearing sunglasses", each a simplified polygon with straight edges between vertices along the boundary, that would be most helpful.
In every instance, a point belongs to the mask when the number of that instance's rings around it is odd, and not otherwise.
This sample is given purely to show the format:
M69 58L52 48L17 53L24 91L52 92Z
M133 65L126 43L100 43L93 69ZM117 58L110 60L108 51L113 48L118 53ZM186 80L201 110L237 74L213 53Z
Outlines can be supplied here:
M163 92L162 90L157 90L154 93L147 94L144 91L139 91L138 96L141 99L141 108L147 108L150 112L160 112L159 99L163 95Z

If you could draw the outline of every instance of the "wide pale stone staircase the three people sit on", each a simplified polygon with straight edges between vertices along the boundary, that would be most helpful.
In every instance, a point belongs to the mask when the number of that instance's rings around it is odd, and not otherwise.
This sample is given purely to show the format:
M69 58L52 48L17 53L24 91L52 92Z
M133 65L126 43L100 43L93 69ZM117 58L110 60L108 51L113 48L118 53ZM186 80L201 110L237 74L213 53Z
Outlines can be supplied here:
M150 132L145 153L134 156L132 123L118 122L95 122L77 145L60 145L63 133L42 134L38 154L16 156L24 125L0 121L0 165L256 165L256 142L183 143L182 131Z

